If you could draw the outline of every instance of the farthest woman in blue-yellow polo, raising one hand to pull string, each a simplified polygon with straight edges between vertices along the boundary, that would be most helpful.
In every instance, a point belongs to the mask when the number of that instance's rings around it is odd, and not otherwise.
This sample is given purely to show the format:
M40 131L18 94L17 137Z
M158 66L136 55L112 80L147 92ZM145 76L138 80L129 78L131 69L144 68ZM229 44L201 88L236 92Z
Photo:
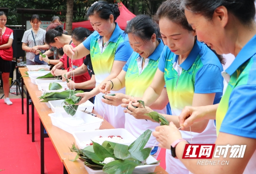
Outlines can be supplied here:
M95 30L94 33L75 48L70 45L63 47L64 53L72 56L74 60L91 54L96 87L90 92L76 94L76 96L82 97L78 104L96 96L94 110L98 114L104 115L104 118L113 127L124 128L124 109L121 106L115 107L104 104L101 101L102 94L99 91L99 84L117 77L132 53L127 34L115 22L120 15L120 10L118 4L100 0L91 5L87 15ZM125 89L116 91L116 93L124 94Z

